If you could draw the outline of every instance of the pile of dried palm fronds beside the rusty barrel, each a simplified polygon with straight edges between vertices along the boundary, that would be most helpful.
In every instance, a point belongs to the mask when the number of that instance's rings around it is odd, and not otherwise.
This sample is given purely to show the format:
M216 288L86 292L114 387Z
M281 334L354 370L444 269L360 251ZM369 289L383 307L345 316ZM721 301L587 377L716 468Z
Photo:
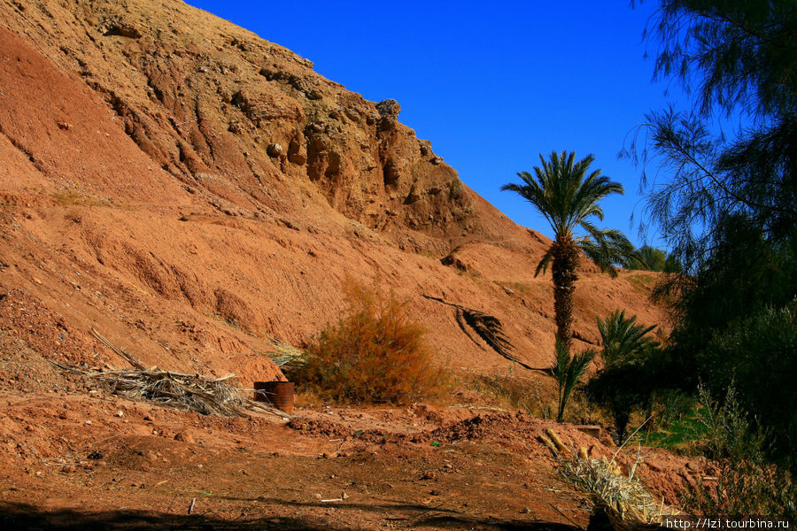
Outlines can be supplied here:
M230 382L235 378L235 374L228 374L221 378L207 378L200 374L161 371L158 367L148 369L141 361L128 352L113 346L97 330L92 328L91 335L122 358L125 358L135 369L103 371L61 364L56 365L99 382L114 395L183 411L202 413L203 415L243 417L246 415L245 411L249 410L268 412L281 417L287 416L275 407L262 402L255 402L244 396L244 392L251 389L238 389L231 385Z

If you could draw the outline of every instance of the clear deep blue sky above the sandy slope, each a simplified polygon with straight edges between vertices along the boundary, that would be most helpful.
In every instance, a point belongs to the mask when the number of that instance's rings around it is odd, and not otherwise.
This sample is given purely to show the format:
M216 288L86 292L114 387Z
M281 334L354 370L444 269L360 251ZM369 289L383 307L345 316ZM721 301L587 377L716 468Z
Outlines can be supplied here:
M677 87L652 82L656 50L642 33L654 1L189 3L294 50L368 100L398 100L399 120L462 181L543 234L545 220L500 185L532 171L539 153L593 153L593 167L626 190L605 200L602 226L642 244L640 169L617 154L646 112L686 106Z

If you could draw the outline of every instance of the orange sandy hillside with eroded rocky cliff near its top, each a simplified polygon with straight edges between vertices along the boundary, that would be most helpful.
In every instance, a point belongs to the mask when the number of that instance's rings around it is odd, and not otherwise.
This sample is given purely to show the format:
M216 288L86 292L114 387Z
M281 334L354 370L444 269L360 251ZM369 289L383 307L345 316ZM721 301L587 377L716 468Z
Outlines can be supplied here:
M0 2L0 330L45 358L279 377L264 334L308 339L349 276L412 304L439 358L509 362L434 296L501 319L552 358L544 237L468 189L400 106L368 102L290 50L166 0ZM576 332L653 277L585 268Z

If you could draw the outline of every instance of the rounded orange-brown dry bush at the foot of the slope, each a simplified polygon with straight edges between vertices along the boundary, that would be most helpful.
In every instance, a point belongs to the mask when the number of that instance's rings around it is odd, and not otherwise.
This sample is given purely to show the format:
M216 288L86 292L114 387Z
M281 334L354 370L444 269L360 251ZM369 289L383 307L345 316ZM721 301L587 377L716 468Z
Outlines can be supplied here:
M307 346L292 376L319 396L343 402L407 404L436 396L446 381L433 366L406 302L378 284L344 285L349 307Z

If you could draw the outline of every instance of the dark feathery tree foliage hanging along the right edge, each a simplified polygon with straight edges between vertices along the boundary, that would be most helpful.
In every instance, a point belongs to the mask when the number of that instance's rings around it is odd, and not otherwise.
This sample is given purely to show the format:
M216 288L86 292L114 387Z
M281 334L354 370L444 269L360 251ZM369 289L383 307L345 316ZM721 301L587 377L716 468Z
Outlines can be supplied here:
M660 287L676 295L669 372L714 390L735 375L781 456L795 449L793 415L765 413L793 380L780 368L793 338L778 312L797 296L795 27L793 0L662 0L648 34L655 75L696 97L692 110L650 112L646 142L628 150L668 175L644 185L646 218L686 273ZM734 114L747 126L713 134L711 119Z

